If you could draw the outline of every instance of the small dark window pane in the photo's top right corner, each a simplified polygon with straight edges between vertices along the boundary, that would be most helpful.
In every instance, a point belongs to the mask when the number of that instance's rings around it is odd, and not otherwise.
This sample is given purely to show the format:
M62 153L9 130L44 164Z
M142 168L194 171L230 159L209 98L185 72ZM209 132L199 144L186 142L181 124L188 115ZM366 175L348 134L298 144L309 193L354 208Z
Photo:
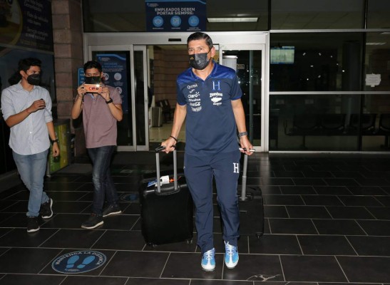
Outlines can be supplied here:
M368 1L366 28L390 28L390 1Z

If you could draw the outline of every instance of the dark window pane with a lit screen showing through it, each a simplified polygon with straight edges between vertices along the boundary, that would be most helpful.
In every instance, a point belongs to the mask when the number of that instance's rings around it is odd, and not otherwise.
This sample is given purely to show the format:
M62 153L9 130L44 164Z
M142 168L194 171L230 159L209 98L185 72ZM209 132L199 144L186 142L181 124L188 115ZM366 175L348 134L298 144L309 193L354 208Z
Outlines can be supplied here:
M363 33L272 33L270 90L361 90L363 37Z

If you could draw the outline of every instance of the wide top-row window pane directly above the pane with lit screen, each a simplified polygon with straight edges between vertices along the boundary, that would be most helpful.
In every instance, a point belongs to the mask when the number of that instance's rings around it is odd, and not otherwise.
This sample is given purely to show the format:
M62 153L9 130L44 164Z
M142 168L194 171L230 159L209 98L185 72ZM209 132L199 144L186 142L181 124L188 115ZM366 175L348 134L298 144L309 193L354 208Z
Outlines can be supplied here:
M362 28L363 9L364 0L272 0L271 29Z

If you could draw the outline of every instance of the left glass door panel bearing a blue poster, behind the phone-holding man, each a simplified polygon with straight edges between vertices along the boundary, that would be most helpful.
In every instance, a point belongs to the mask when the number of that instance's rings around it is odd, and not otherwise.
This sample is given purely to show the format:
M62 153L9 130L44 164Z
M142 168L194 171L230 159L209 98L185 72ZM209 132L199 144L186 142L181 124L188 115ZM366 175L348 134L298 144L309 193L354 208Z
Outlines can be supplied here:
M101 63L105 83L115 87L122 97L118 150L148 150L148 85L143 79L148 74L145 46L90 46L89 55Z

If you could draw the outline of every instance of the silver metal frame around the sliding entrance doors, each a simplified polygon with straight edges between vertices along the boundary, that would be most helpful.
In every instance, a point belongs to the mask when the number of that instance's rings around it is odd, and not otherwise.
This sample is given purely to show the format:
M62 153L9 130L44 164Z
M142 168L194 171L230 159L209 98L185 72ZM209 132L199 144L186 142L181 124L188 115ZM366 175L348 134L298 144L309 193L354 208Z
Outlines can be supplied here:
M135 100L135 76L134 76L134 51L135 48L145 48L146 46L158 45L178 45L187 44L187 38L191 33L83 33L84 58L86 61L92 58L92 51L130 51L130 80L131 80L131 100ZM260 152L267 152L269 149L269 74L270 74L270 32L267 31L222 31L207 32L212 41L220 46L220 62L222 61L222 50L232 47L242 49L257 47L262 50L262 145L255 149ZM148 71L148 56L145 52L144 71ZM148 77L145 77L148 78ZM145 89L147 96L147 89ZM147 98L147 97L146 97ZM135 104L133 108L133 140L135 138ZM148 112L145 113L148 115ZM148 118L145 118L145 127L148 128ZM148 133L148 129L145 129ZM147 136L148 138L148 136ZM120 151L148 150L146 147L136 146L118 146Z

